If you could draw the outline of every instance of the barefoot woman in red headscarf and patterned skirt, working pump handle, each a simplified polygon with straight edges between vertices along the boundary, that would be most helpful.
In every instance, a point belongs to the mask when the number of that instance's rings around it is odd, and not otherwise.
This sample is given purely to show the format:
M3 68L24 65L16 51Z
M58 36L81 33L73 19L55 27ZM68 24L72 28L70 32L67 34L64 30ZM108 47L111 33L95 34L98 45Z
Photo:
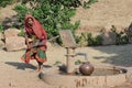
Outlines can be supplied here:
M43 63L46 62L46 32L41 23L30 14L24 19L24 29L28 50L21 58L26 64L30 63L30 59L36 59L38 64L37 70L41 70Z

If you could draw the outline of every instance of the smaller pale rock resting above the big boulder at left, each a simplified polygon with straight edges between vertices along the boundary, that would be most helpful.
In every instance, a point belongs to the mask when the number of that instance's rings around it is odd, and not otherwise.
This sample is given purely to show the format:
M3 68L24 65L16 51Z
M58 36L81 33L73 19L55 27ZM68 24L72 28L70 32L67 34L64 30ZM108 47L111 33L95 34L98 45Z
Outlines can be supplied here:
M18 36L18 34L20 33L20 30L18 29L8 29L4 31L4 36L10 37L10 36Z

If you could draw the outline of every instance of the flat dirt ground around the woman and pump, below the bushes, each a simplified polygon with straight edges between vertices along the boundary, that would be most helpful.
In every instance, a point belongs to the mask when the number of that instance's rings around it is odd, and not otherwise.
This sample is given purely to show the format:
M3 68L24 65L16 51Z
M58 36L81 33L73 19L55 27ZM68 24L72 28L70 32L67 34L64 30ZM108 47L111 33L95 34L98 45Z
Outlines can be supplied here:
M90 63L132 67L132 45L78 47L76 52L87 53ZM24 50L18 52L0 50L0 88L54 88L38 78L40 73L35 70L37 66L35 61L31 61L28 65L20 59L23 53ZM53 66L56 61L65 64L65 54L64 47L50 45L48 61L44 65ZM84 61L84 57L77 56L76 59Z

